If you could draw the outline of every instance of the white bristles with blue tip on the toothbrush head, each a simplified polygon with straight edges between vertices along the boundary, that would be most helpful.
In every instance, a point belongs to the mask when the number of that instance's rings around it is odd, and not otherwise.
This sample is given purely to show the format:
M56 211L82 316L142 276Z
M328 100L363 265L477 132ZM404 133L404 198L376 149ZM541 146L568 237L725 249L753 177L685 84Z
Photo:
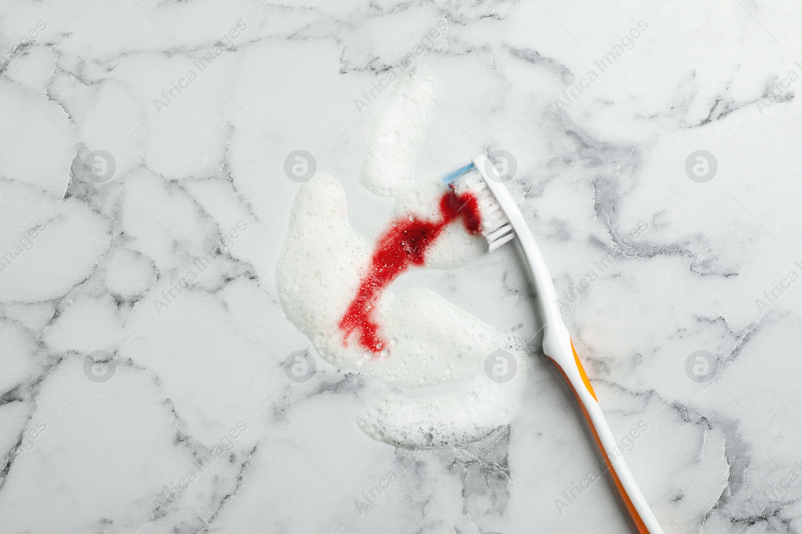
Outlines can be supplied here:
M488 167L492 173L496 173L496 170L490 165L484 165L486 161L483 156L477 156L472 163L445 175L442 180L457 196L471 195L476 199L481 215L480 231L488 241L488 251L492 252L504 243L512 241L515 238L515 231L493 192L496 187L503 188L504 185L500 179L492 184L489 183L491 178L488 178L488 169L484 167ZM506 193L506 189L504 192Z

